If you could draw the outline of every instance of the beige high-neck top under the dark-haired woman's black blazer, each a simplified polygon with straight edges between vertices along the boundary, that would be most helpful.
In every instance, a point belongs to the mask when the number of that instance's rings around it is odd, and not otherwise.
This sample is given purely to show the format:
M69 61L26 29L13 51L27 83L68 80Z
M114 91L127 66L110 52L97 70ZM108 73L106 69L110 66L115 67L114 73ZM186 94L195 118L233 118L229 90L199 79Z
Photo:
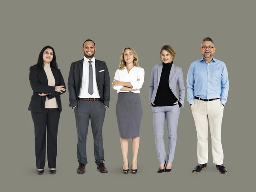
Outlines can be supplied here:
M50 64L44 64L44 71L45 71L47 79L48 79L48 85L49 86L55 86L55 79L54 79L54 76L52 74ZM46 97L44 108L50 108L50 109L58 108L56 98L54 97L52 99L48 99L48 97Z

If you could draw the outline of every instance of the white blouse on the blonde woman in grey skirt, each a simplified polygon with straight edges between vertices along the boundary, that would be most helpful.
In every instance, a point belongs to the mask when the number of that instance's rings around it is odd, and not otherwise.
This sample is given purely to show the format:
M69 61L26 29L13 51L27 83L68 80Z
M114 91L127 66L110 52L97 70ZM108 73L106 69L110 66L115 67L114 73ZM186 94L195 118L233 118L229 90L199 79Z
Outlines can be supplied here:
M123 81L123 82L130 82L132 85L132 89L138 89L138 90L134 90L131 92L140 93L140 88L142 87L143 82L144 82L144 75L145 75L145 71L141 67L134 66L129 71L129 73L125 67L123 70L119 70L119 69L116 70L114 79L116 79L118 81ZM140 79L140 81L137 81L137 79ZM113 88L115 90L117 90L117 93L129 92L129 91L120 90L120 89L122 89L122 87L123 87L122 85L119 85L119 86L114 86Z

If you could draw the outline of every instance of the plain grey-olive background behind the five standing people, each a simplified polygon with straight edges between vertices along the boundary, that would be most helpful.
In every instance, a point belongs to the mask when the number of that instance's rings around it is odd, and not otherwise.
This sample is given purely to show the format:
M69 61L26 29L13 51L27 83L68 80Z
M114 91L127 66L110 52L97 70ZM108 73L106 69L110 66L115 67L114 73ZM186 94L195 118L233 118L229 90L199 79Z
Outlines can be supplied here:
M197 1L1 1L1 191L241 191L253 186L255 172L255 3L220 0ZM201 58L205 37L215 42L215 58L227 65L230 91L224 109L221 175L212 163L209 135L208 169L192 174L197 164L197 137L189 103L180 110L177 147L172 172L157 174L159 162L154 143L152 111L148 99L151 69L160 63L160 49L176 49L175 64L183 68ZM58 66L67 84L70 64L83 58L82 44L96 43L96 58L107 63L111 79L122 49L133 47L145 69L141 89L143 119L140 129L138 174L122 174L115 105L111 89L110 108L103 127L105 164L108 174L97 171L91 130L87 139L86 173L76 173L76 123L68 107L68 93L61 96L63 112L58 131L57 174L36 175L34 128L27 111L32 90L29 67L37 62L46 45L54 47ZM186 85L186 83L185 83ZM187 96L187 94L186 94ZM186 99L185 99L186 100ZM165 132L166 133L166 132ZM167 135L165 134L167 143ZM167 147L167 146L166 146ZM131 143L129 145L131 162ZM130 165L131 166L131 165ZM131 168L130 168L131 169Z

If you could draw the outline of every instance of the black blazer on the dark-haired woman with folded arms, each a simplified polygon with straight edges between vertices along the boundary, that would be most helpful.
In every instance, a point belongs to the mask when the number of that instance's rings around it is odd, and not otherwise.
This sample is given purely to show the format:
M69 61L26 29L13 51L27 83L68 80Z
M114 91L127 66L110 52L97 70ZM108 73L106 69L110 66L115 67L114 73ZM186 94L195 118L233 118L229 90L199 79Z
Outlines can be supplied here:
M64 79L61 75L61 70L54 69L51 67L52 74L55 79L55 86L64 85L66 89ZM33 65L29 68L29 82L31 88L33 90L33 95L31 97L31 101L29 103L29 111L31 112L42 112L45 110L45 100L46 97L48 99L56 98L58 109L62 111L61 107L61 94L65 93L65 91L55 92L55 87L48 85L48 79L44 69L39 69L37 65ZM47 96L40 96L38 93L45 93Z

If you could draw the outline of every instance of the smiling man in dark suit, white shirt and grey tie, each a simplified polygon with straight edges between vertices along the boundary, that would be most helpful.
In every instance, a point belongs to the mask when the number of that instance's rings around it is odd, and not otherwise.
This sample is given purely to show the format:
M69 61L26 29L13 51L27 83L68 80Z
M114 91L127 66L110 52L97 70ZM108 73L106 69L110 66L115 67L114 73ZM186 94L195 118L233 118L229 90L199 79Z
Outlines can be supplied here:
M87 39L83 44L84 58L73 62L68 77L70 106L74 109L77 128L78 173L85 172L87 164L86 138L89 119L94 139L94 157L97 169L107 173L103 163L102 126L110 100L110 78L104 61L94 58L95 43Z

